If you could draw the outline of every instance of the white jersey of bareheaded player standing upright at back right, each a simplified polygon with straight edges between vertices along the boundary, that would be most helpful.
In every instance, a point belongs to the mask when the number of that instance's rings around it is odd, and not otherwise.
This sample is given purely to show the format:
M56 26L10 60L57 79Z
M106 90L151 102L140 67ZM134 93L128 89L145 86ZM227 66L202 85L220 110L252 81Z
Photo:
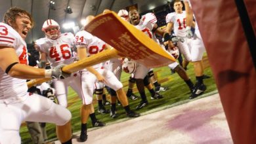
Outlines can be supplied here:
M186 12L182 11L181 14L171 12L167 14L166 24L173 23L173 31L177 37L186 37Z

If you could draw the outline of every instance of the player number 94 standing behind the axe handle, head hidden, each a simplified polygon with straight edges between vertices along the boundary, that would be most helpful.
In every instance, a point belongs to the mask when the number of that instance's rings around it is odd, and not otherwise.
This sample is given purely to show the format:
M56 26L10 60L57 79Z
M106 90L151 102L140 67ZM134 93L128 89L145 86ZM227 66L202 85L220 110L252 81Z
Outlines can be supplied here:
M87 21L92 20L94 16L87 16ZM79 60L86 58L87 56L92 56L98 52L102 52L104 48L110 48L104 41L98 39L97 37L91 35L87 31L79 31L75 34L75 46L77 47L77 54ZM83 113L88 113L92 101L93 101L93 90L95 89L95 82L101 82L106 86L115 90L116 93L112 92L110 95L115 96L121 101L123 108L126 111L127 117L139 117L139 113L135 113L129 107L129 103L123 91L123 84L116 78L114 73L104 69L102 63L93 65L92 67L87 67L81 71L81 77L85 80L82 83L83 91L85 92L83 99ZM80 134L80 140L86 141L87 139L87 117L82 118L82 131Z

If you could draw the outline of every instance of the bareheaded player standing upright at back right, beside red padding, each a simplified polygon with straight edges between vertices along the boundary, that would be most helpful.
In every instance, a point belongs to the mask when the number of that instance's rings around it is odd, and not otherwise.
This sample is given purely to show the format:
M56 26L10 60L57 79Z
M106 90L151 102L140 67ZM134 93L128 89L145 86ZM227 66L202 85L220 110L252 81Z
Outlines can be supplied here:
M186 27L186 12L182 11L182 7L183 5L180 0L174 1L173 9L175 9L175 12L167 14L167 27L165 30L167 33L171 33L173 30L177 37L182 37L184 39L184 43L178 42L177 46L179 47L180 52L183 54L185 60L194 64L194 73L196 75L197 82L194 86L194 90L192 90L192 94L189 97L189 99L193 99L206 90L206 86L203 84L202 63L205 47L200 37L198 27L196 26L195 34L193 37L190 33L190 27ZM190 24L190 26L192 26L192 24Z

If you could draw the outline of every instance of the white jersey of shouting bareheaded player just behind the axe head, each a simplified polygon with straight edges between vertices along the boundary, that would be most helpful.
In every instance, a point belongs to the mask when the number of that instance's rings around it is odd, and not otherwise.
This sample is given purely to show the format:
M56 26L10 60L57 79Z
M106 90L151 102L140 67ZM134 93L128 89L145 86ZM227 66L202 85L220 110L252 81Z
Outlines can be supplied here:
M155 14L147 13L140 18L139 24L135 27L137 27L137 29L140 29L142 32L148 35L150 39L153 39L154 36L152 34L152 29L156 22L158 22L158 20L156 19Z

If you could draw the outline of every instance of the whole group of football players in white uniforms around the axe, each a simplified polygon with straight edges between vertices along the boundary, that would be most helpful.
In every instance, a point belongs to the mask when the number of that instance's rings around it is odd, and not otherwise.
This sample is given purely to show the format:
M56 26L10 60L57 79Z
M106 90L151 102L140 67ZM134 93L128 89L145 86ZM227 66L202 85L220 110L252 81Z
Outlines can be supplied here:
M129 12L122 9L117 15L142 31L145 37L150 37L161 45L170 56L177 59L182 54L182 65L172 62L167 66L184 80L191 92L189 99L193 99L206 90L202 65L205 48L196 21L193 20L190 3L188 0L183 2L184 5L180 0L174 1L175 12L167 14L165 29L158 27L158 20L152 12L140 16L136 9ZM186 7L186 11L182 7ZM93 18L94 16L87 16L87 24ZM145 86L150 92L150 98L156 100L163 98L161 91L168 89L157 81L153 69L132 58L112 58L74 73L65 73L62 71L65 65L113 47L84 29L77 33L61 33L58 22L52 19L45 20L42 26L45 37L37 39L34 44L40 53L37 67L28 66L28 50L24 39L32 27L32 16L26 10L16 7L9 9L5 13L4 21L0 23L0 143L20 143L19 129L23 121L54 123L60 142L72 143L71 113L66 109L68 86L73 88L82 101L80 141L87 140L89 117L93 126L105 126L104 122L96 118L94 94L98 101L98 113L110 113L110 117L117 118L116 103L119 101L127 117L134 118L140 114L130 109L129 99L140 98L136 110L142 109L149 105ZM191 27L194 27L194 33ZM156 35L162 37L163 42L160 43ZM194 65L196 82L192 82L186 74L184 67L188 62ZM47 63L51 67L45 69ZM123 90L120 82L122 71L130 74L127 92ZM45 91L41 90L45 92L45 97L27 92L26 80L39 78L53 78L56 103L50 86ZM133 94L135 83L140 96ZM106 99L105 91L110 94L110 103ZM111 105L110 111L104 107L106 104Z

